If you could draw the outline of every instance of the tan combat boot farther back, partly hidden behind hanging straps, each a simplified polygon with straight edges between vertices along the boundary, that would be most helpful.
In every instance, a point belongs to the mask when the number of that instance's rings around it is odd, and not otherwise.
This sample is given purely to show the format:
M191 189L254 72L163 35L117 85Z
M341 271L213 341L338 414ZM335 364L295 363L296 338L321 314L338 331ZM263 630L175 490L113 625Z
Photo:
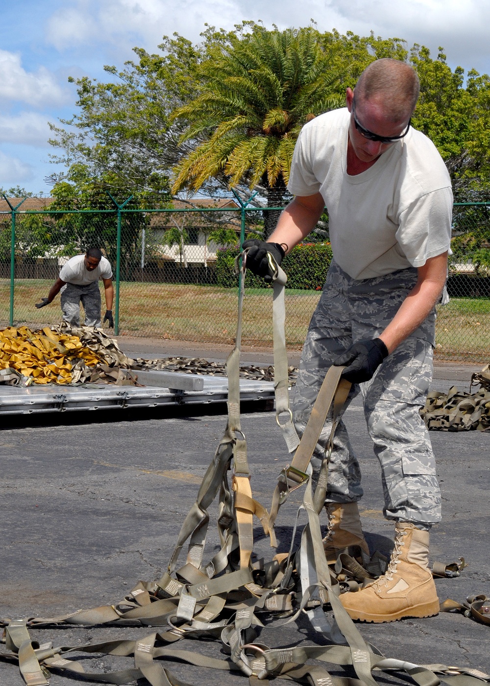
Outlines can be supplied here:
M334 565L340 553L348 552L352 557L362 556L364 550L369 558L369 547L364 541L361 518L357 503L327 503L327 536L323 539L323 549L327 564Z

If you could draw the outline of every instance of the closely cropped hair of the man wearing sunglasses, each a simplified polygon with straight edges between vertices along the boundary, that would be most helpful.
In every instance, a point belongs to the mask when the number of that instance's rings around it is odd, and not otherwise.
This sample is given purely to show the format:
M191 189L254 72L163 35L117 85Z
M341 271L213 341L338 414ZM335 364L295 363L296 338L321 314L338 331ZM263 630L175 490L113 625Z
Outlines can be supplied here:
M417 72L401 60L382 58L366 67L355 85L355 102L381 99L393 121L410 117L419 99Z

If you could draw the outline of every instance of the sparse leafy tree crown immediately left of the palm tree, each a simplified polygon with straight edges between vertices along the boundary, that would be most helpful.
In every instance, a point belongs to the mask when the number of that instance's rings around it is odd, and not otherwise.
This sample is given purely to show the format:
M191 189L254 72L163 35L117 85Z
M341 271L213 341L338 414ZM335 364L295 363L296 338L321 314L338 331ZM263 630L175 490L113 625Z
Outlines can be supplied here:
M146 191L147 202L154 193L168 199L168 176L182 154L182 127L171 126L169 117L195 92L202 48L176 35L164 36L159 49L165 54L135 48L139 60L126 62L121 71L104 67L112 82L69 78L77 86L78 112L60 120L69 129L50 124L49 142L60 150L51 156L56 163L84 164L90 176L105 176L113 188Z

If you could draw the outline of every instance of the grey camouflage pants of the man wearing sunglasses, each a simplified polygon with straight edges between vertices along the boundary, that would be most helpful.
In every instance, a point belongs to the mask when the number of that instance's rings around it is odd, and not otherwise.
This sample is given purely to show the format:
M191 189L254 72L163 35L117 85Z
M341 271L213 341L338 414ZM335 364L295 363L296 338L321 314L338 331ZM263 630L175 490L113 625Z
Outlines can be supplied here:
M361 338L376 338L393 319L417 281L410 268L356 281L332 262L307 333L294 392L294 423L301 436L331 361ZM432 381L435 312L386 357L373 379L354 384L349 402L362 393L364 416L380 460L386 519L425 523L441 519L434 453L419 414ZM327 418L312 460L318 469L331 429ZM340 419L329 463L327 501L362 497L360 466Z

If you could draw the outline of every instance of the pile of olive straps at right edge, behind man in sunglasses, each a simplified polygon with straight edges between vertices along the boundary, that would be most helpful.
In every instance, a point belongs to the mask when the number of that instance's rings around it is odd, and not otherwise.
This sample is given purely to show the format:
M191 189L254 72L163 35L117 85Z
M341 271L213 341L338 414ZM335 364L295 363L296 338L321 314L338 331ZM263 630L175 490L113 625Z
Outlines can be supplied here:
M471 393L474 384L480 389ZM471 375L469 393L452 386L447 393L430 391L421 410L428 429L434 431L490 430L490 364Z

